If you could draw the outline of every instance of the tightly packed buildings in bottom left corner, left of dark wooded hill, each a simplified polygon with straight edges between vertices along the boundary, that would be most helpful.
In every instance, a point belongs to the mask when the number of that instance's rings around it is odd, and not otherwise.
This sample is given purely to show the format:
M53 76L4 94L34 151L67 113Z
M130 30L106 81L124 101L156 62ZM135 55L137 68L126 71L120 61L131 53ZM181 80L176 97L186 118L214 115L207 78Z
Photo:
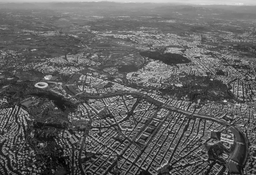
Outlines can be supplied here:
M6 102L5 99L1 99ZM36 164L35 151L26 141L26 132L31 117L23 108L0 109L0 172L24 175L40 174Z

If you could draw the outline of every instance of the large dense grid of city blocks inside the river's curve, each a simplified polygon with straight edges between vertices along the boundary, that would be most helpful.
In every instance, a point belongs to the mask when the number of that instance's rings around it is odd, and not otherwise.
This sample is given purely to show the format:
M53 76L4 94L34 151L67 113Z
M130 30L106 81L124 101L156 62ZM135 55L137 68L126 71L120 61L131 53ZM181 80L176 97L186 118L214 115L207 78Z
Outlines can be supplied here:
M154 104L130 95L89 100L88 104L79 107L77 114L81 113L73 120L86 120L86 109L94 111L84 144L87 161L82 166L87 173L138 174L147 170L157 175L166 165L173 167L173 174L200 173L210 167L204 145L212 143L209 141L211 132L222 133L215 143L233 144L230 131L217 122L188 119L180 113L157 110ZM133 111L132 115L129 111ZM219 159L227 161L227 154ZM223 169L224 166L216 162L210 171L216 173Z

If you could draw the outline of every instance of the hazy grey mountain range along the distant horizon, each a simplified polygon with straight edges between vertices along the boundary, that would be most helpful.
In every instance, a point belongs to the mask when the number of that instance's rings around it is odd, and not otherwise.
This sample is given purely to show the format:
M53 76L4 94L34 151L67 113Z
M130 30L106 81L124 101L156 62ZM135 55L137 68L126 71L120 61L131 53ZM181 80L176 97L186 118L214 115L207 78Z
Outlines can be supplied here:
M113 9L125 11L153 11L157 14L169 14L178 12L188 15L207 15L218 14L220 17L236 17L256 19L256 6L228 6L228 5L177 5L163 3L116 3L110 1L100 2L62 2L62 3L1 3L0 8L24 9L24 8L47 8L47 9L104 9L111 11Z

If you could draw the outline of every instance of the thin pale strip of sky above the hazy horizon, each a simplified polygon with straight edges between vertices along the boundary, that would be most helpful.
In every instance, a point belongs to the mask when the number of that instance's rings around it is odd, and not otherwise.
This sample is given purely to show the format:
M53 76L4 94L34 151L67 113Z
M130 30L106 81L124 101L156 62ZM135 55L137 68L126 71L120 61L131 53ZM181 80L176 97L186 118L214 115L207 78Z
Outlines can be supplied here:
M0 2L79 2L79 1L101 1L101 0L0 0ZM108 0L114 2L150 2L150 3L191 3L191 4L231 4L231 5L256 5L256 0Z

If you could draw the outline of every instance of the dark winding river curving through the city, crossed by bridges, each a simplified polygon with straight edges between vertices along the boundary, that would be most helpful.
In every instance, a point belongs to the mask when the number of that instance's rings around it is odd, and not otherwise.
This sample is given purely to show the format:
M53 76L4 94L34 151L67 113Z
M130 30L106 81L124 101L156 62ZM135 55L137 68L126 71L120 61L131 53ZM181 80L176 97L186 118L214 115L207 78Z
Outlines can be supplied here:
M70 81L67 83L69 85L74 84L76 82L76 79L79 78L81 73L77 73L73 75L70 79ZM161 106L163 108L166 108L170 111L175 111L177 113L183 113L185 115L192 116L192 118L201 118L205 120L211 120L218 122L226 127L234 134L234 139L235 139L235 151L233 155L231 155L231 158L228 162L228 168L231 174L242 174L242 169L243 166L247 160L247 155L248 155L248 139L244 136L244 134L236 127L230 126L229 123L227 123L224 120L221 119L216 119L214 116L209 116L206 114L199 114L199 113L193 113L189 112L186 110L182 110L177 107L172 107L170 105L164 104L162 102L157 101L156 99L153 99L151 96L148 96L144 93L140 92L134 92L134 91L128 91L128 90L118 90L115 92L110 92L110 93L100 93L100 94L91 94L91 93L81 93L81 92L76 92L74 90L73 86L68 86L67 87L73 95L76 95L76 97L79 98L85 98L85 99L102 99L102 98L108 98L108 97L113 97L113 96L122 96L122 95L132 95L136 96L139 98L143 98L148 102L151 102L157 106Z

